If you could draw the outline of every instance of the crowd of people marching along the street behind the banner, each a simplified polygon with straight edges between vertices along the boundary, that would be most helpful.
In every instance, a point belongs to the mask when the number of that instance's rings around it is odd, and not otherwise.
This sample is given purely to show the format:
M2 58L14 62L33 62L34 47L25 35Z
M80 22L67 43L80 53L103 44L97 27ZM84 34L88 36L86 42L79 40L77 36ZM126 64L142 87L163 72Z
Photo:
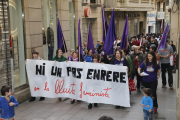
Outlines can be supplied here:
M157 85L158 78L162 77L162 88L166 87L166 72L168 73L168 85L170 89L173 89L173 76L172 66L170 65L170 56L176 53L176 48L173 45L173 41L166 40L165 48L158 49L161 42L162 35L146 34L132 37L128 43L127 48L121 49L121 38L118 37L113 44L114 54L106 55L103 51L104 42L97 41L94 52L92 48L87 50L87 44L84 43L83 55L84 58L79 57L78 50L71 50L70 56L66 58L63 56L61 49L56 50L56 56L53 58L55 62L74 61L74 62L91 62L91 63L103 63L118 66L127 66L129 79L137 80L136 88L137 92L143 90L144 97L141 105L143 106L144 116L152 118L150 113L157 113ZM110 46L111 47L111 46ZM32 53L34 60L41 60L39 53L34 51ZM144 73L148 74L146 76ZM8 93L10 88L8 89ZM4 95L7 94L3 92ZM151 97L149 97L151 96ZM8 98L11 99L11 98ZM14 98L13 98L14 99ZM44 100L44 97L40 97L40 101ZM58 98L57 102L60 102L62 98ZM29 102L35 101L35 97L31 97ZM71 100L71 104L75 103L75 99ZM17 106L16 104L12 104ZM92 103L89 103L88 109L92 108ZM94 103L94 107L98 104ZM148 106L148 107L147 107ZM115 106L116 109L121 106ZM147 112L148 111L148 112ZM145 118L147 119L147 118Z

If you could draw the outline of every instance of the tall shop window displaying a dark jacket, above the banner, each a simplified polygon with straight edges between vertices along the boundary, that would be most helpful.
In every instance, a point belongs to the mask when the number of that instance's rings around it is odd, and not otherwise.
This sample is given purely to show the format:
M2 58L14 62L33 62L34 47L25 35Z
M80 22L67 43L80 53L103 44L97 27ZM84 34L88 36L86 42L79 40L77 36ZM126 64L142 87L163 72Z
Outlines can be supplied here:
M44 60L52 60L57 49L57 1L41 0Z

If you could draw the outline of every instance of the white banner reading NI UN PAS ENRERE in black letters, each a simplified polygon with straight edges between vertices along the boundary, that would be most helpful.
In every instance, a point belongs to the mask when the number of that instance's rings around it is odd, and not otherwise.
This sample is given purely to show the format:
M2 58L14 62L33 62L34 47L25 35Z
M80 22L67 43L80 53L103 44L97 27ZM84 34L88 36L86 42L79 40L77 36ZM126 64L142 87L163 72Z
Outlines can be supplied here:
M68 97L130 107L125 66L28 59L26 69L34 97Z

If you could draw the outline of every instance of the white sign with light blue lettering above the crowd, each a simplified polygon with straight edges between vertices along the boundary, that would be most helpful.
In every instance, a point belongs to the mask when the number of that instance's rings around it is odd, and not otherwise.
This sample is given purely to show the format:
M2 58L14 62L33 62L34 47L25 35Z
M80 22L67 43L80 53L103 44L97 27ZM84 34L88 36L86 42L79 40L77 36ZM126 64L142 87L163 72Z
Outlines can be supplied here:
M156 24L156 12L147 12L147 25L153 26Z

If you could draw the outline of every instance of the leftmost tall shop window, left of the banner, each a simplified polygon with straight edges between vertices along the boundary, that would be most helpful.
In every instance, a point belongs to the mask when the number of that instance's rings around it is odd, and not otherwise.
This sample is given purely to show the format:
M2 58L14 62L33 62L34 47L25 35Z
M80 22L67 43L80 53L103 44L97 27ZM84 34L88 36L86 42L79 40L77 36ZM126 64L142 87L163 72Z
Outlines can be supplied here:
M14 68L14 87L26 84L25 72L25 42L23 34L23 17L22 1L9 1L9 17L10 17L10 36L12 41L11 53Z

